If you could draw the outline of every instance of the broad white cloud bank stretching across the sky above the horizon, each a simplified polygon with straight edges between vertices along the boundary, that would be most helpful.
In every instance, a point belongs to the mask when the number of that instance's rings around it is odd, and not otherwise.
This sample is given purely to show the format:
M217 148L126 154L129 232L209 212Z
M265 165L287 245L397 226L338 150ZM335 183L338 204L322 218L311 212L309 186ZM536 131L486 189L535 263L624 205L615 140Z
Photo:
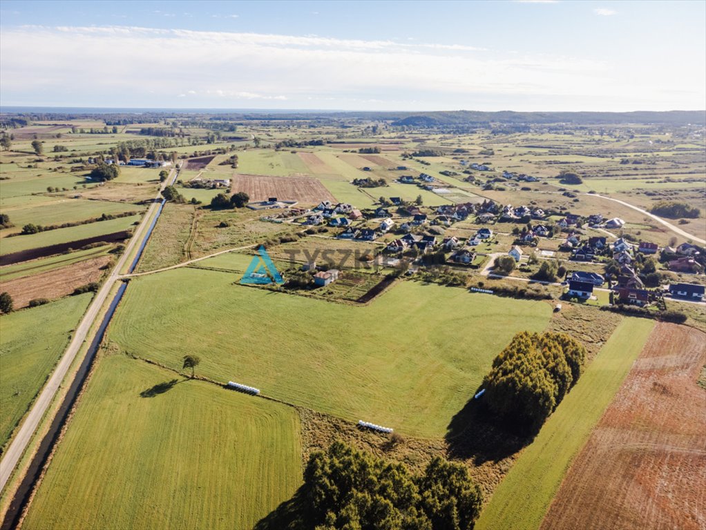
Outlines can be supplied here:
M480 108L493 101L536 101L539 109L599 109L629 102L671 102L669 90L702 92L702 71L675 64L644 75L610 57L499 52L473 45L335 39L138 28L47 28L0 32L4 104L177 105L295 108ZM153 92L153 95L150 93ZM128 99L131 98L131 99ZM311 99L309 99L311 98ZM138 103L139 102L139 103ZM425 103L426 102L426 103ZM573 102L570 106L566 102ZM671 104L671 103L669 103ZM517 108L507 103L504 108ZM557 108L558 107L558 108ZM646 107L642 107L646 108Z

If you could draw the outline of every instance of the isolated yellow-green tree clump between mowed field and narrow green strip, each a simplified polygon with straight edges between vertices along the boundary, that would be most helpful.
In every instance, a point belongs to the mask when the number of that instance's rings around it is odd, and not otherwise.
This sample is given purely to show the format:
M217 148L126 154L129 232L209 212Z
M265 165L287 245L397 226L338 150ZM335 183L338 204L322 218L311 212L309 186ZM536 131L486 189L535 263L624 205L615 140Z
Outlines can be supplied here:
M520 428L539 430L581 375L585 347L562 333L521 332L493 360L484 402Z

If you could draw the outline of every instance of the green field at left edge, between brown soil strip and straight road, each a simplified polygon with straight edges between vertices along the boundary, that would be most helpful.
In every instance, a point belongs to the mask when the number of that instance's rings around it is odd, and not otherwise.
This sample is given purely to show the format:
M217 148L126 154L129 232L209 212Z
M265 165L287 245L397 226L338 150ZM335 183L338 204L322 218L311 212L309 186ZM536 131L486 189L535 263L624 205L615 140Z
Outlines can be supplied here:
M0 317L0 447L64 353L91 299L88 293L69 296Z

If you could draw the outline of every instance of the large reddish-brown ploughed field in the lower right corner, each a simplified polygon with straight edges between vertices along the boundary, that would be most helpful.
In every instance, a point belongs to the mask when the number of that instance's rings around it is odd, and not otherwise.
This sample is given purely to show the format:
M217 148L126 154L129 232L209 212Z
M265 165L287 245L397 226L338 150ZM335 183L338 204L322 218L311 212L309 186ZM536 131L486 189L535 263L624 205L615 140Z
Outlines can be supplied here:
M542 530L706 527L705 340L686 326L654 327Z

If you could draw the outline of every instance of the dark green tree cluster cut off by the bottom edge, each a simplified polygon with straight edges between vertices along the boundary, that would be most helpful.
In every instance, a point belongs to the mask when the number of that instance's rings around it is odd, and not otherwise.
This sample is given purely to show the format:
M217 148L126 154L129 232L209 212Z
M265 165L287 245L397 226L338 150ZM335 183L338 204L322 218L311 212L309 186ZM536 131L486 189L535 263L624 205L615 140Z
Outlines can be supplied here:
M295 528L469 530L481 492L462 464L436 457L424 474L334 442L311 455Z

